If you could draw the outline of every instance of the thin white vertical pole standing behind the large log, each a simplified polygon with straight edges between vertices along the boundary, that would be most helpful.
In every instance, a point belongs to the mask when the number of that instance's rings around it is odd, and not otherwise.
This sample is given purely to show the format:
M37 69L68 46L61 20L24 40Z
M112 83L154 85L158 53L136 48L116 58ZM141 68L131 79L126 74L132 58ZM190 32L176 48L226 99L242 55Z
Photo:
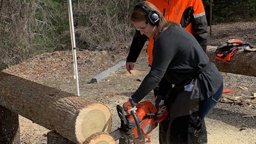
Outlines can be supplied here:
M77 70L77 58L76 58L76 39L75 39L74 20L73 20L72 1L71 0L68 0L68 18L69 18L71 45L72 45L72 53L73 53L72 72L73 72L74 79L76 79L77 96L80 96L78 70Z

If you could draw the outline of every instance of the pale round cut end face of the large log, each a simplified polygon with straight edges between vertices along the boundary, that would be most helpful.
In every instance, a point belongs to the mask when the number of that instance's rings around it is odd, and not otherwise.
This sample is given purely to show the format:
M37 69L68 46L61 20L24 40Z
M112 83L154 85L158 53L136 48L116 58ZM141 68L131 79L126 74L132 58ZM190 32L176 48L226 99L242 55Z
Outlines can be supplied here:
M111 113L102 104L91 104L81 109L76 119L76 138L84 141L97 132L109 132L111 130Z

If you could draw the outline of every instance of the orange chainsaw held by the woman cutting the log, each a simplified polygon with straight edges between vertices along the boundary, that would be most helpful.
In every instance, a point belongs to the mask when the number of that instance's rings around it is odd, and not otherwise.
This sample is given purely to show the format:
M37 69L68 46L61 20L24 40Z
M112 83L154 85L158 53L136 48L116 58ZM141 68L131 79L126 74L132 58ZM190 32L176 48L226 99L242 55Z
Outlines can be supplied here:
M157 109L149 101L136 104L136 108L129 114L125 113L120 105L116 106L116 110L121 120L121 127L110 134L115 141L124 138L125 143L128 144L150 144L148 134L168 116L166 106L159 106Z

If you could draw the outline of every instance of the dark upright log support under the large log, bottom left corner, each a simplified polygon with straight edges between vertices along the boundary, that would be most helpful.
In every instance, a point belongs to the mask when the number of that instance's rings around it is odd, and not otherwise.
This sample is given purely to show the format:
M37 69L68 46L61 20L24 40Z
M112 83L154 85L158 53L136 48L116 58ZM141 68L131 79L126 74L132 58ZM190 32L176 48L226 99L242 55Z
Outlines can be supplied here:
M0 106L0 143L20 144L19 115L2 106Z

